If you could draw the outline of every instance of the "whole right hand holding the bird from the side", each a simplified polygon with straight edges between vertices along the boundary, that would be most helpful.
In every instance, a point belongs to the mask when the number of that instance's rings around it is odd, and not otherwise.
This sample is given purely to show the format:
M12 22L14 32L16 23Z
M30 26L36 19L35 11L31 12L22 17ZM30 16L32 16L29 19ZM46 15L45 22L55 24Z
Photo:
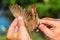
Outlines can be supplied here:
M48 28L46 25L50 25ZM60 19L43 18L40 19L39 29L50 38L50 40L60 40Z

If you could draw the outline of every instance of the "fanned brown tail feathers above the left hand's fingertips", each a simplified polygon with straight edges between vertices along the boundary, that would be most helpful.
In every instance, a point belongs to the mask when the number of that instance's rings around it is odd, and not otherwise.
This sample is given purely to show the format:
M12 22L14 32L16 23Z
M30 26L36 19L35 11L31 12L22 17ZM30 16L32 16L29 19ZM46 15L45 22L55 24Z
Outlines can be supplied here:
M9 9L12 12L12 14L14 15L14 17L22 16L25 13L24 9L17 4L10 5Z

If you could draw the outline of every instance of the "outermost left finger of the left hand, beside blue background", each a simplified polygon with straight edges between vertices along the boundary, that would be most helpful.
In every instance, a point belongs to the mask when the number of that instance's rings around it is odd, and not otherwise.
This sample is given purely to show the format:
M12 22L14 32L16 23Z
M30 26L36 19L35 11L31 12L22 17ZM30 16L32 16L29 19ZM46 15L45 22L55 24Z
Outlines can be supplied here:
M14 31L15 31L16 25L17 25L17 19L15 19L15 20L11 23L11 25L10 25L10 27L9 27L9 29L8 29L8 32L7 32L7 38L12 38L11 36L13 35L13 33L14 33Z

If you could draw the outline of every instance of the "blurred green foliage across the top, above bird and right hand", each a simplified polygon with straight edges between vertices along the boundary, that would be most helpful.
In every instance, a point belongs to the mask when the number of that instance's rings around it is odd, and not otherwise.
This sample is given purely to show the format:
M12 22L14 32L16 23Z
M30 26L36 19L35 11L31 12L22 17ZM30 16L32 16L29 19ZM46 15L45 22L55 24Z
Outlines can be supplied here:
M29 7L34 4L37 6L39 17L54 17L59 18L60 0L1 0L0 8L9 7L10 4L19 4L22 7Z

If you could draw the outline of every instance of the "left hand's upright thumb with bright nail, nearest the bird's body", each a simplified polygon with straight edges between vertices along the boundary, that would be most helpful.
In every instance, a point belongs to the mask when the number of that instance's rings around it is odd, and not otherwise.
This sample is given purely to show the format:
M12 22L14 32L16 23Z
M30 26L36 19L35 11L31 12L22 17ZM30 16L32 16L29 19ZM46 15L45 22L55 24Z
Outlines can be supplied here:
M24 20L22 17L18 18L19 20L19 32L18 32L18 40L29 40L30 36L26 27L24 26Z

